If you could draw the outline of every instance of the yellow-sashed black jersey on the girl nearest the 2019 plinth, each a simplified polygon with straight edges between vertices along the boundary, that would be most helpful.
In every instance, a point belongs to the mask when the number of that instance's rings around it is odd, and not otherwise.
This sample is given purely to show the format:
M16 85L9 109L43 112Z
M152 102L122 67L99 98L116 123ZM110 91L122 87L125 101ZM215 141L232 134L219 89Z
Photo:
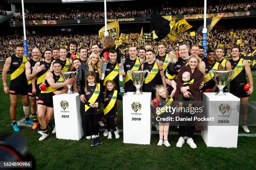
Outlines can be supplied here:
M107 115L107 117L117 116L117 103L116 103L117 100L118 100L117 90L106 91L105 102L104 102L104 115Z

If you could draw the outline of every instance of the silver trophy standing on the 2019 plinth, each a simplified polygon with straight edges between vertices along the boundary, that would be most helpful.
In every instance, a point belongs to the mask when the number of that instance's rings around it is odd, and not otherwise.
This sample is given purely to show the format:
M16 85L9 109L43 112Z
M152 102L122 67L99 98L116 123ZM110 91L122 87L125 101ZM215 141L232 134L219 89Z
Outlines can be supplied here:
M145 77L145 73L148 73ZM130 76L131 74L131 76ZM133 85L136 87L136 92L133 93L134 95L142 95L141 86L143 85L144 80L148 77L149 71L148 70L138 70L138 71L127 71L128 77L133 81Z

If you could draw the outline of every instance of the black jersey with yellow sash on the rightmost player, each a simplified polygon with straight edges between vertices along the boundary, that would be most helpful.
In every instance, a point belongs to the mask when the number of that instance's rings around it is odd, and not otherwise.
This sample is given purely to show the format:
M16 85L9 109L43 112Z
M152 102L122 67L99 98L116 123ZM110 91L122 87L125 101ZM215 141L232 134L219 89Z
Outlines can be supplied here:
M243 66L243 58L239 58L234 61L233 59L229 60L231 62L231 68L235 71L233 77L230 80L230 85L242 85L246 83L246 70Z

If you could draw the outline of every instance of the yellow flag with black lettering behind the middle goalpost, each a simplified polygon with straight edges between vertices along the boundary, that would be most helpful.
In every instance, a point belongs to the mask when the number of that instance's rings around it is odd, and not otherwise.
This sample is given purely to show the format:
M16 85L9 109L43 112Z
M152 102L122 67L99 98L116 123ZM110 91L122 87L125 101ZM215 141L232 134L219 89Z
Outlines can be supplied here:
M115 40L117 40L118 36L119 36L119 23L118 21L114 21L112 23L107 24L107 31L108 34L112 37L115 38ZM99 37L103 38L104 37L104 32L105 32L105 26L102 27L99 30Z

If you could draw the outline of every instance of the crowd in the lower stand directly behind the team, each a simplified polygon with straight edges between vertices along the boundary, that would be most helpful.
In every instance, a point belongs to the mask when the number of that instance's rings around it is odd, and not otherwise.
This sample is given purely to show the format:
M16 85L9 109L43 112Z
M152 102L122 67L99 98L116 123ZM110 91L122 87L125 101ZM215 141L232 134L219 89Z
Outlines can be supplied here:
M243 29L216 29L212 30L208 34L207 47L208 49L216 49L217 47L222 47L225 51L226 56L230 56L230 49L232 46L237 45L241 47L241 55L251 56L256 47L256 29L255 28L243 28ZM139 33L138 33L139 37ZM23 37L21 35L5 35L0 37L0 60L5 60L10 57L15 52L15 45L20 44ZM90 49L92 43L97 43L102 50L100 39L97 34L70 34L70 35L29 35L28 40L28 52L34 47L37 47L41 53L47 48L52 48L55 46L66 46L70 40L76 40L80 46L87 47ZM179 40L179 41L177 41ZM184 32L176 41L172 41L169 37L162 40L166 44L167 51L178 50L178 44L180 42L188 42L189 45L202 45L202 39L200 35L196 33L195 36L190 36L190 31ZM241 42L240 42L241 40ZM153 46L155 52L157 52L157 42L150 42ZM137 40L138 44L138 40ZM128 46L130 43L123 43L120 45L121 52L123 56L128 55ZM100 50L100 51L101 51Z

